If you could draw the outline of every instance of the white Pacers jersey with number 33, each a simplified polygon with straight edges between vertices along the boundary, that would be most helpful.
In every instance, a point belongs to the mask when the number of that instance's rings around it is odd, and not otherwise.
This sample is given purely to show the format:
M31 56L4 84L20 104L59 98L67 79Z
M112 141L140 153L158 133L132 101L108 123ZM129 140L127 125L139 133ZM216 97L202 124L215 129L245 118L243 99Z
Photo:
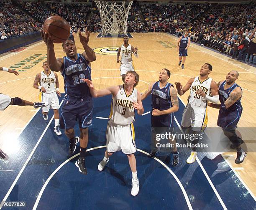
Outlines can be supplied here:
M200 81L199 76L195 77L195 80L190 87L189 104L200 107L207 106L207 99L199 96L196 92L201 89L207 96L209 96L211 92L211 82L212 78L210 77L204 81Z

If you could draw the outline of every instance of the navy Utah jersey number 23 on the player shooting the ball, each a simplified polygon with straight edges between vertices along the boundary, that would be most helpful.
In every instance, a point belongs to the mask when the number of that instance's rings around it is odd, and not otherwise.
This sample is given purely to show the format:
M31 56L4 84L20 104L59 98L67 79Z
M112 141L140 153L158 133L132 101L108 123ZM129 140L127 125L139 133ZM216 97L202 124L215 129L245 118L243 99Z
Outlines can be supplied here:
M92 97L89 87L82 80L84 78L92 80L91 71L88 61L86 61L82 54L77 53L76 61L72 61L65 56L64 68L61 73L64 77L65 93L76 98Z

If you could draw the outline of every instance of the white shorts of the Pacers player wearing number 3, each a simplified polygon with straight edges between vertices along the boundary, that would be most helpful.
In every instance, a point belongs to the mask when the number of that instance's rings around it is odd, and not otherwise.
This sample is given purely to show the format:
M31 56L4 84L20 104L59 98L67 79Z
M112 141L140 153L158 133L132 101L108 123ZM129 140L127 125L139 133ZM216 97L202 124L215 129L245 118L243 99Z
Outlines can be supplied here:
M107 151L109 153L122 150L124 154L133 154L136 152L134 141L133 124L117 125L108 121L107 128Z

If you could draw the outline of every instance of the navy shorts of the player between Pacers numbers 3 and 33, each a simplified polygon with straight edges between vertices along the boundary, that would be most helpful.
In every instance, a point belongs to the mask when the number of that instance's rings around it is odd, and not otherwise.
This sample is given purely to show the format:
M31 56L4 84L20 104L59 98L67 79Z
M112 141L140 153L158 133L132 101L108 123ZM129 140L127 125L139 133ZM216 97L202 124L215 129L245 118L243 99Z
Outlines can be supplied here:
M174 115L164 114L153 116L151 114L151 130L157 132L158 128L166 128L166 131L172 132L174 127Z

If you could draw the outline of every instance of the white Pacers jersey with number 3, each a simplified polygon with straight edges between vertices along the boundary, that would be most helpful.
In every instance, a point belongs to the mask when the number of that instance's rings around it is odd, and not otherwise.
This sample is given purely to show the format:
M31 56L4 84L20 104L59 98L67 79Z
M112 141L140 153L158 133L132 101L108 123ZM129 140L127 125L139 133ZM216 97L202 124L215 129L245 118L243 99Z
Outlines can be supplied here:
M134 121L133 103L137 103L137 89L133 88L130 95L127 95L124 85L120 85L118 94L112 99L109 119L118 125L129 125Z

